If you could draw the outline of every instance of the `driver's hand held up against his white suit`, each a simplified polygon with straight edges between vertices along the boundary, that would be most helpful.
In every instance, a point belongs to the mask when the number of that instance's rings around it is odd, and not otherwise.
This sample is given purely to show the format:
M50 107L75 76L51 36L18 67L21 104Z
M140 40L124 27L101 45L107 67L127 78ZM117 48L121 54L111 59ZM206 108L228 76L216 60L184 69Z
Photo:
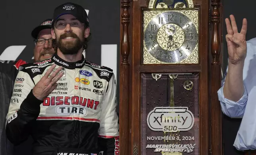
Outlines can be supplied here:
M60 66L50 75L55 67L56 64L52 65L33 88L33 95L37 99L44 100L57 87L58 83L56 82L60 79L60 77L63 76L64 72L61 72L58 76L56 76L62 69L62 66Z

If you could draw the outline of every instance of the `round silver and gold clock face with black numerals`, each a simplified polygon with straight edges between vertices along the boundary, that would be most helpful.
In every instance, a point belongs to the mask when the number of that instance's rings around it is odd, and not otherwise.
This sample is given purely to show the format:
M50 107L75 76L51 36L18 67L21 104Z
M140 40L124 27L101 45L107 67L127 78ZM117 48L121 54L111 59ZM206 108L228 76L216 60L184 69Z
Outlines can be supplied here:
M194 23L177 11L165 11L149 21L144 32L147 51L165 63L180 62L189 57L198 42Z

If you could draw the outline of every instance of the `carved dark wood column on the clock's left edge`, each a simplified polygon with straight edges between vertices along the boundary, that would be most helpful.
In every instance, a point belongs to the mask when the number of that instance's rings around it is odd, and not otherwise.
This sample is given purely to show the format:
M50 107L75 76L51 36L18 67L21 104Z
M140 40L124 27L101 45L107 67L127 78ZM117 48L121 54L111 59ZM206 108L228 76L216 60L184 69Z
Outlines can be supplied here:
M129 71L130 64L128 57L130 54L129 42L129 23L130 23L130 1L121 0L122 15L122 41L121 41L121 64L120 64L120 154L128 154L128 140L129 140Z

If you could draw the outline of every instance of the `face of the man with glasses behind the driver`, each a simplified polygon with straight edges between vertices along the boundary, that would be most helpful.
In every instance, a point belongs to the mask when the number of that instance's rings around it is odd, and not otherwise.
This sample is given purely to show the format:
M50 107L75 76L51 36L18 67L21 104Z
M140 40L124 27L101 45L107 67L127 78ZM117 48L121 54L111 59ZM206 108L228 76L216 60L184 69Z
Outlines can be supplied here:
M35 44L34 48L35 62L49 59L55 53L54 49L52 48L51 40L47 40L50 38L52 38L52 35L50 34L50 28L43 29L39 32L37 36L38 42ZM43 43L44 39L46 39L45 43Z

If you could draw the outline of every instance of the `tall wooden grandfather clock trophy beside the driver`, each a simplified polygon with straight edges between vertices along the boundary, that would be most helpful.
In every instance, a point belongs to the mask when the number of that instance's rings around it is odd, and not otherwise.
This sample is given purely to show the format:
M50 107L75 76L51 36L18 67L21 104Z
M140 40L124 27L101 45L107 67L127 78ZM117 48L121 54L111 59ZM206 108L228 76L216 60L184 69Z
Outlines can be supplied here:
M121 1L120 154L222 154L219 5Z

